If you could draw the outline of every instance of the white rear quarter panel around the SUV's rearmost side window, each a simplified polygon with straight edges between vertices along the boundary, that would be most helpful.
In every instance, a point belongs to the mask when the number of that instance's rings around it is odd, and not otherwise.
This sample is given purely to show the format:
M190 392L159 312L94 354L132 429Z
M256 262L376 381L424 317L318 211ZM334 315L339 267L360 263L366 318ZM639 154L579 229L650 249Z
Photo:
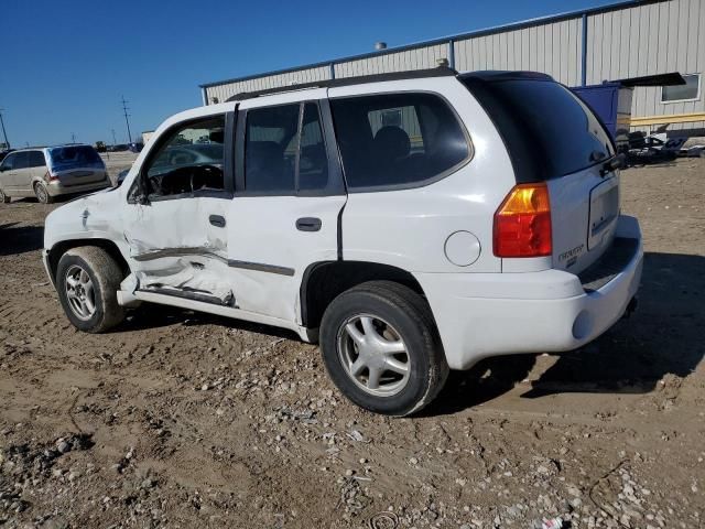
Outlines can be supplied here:
M340 87L328 95L390 91L443 96L463 121L474 152L455 173L425 186L349 193L343 213L344 259L380 262L410 272L500 272L501 259L492 255L492 217L514 185L514 174L495 126L453 77ZM445 256L446 239L458 230L470 231L480 242L479 257L466 267L453 264Z

